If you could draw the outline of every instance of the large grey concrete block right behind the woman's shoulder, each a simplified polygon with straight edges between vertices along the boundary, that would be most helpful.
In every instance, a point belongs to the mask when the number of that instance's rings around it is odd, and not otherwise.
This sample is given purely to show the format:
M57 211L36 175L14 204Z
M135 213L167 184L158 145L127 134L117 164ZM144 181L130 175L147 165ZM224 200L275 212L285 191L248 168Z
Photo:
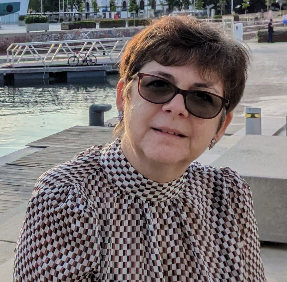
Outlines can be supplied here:
M247 135L212 163L249 183L260 240L287 243L287 137Z

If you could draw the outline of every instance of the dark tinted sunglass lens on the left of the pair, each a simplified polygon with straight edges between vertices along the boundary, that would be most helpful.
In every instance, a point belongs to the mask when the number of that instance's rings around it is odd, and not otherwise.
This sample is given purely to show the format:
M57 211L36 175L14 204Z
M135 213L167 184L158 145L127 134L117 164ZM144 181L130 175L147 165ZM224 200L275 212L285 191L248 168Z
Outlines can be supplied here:
M175 89L168 81L157 77L144 76L140 82L139 92L146 100L163 104L172 98Z

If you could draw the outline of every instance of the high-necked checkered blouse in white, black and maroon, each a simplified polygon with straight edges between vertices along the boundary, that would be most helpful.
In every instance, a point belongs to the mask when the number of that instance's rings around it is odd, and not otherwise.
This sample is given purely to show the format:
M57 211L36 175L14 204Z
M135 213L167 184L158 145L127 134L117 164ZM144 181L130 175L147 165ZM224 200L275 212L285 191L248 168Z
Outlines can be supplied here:
M16 245L14 281L265 281L248 184L193 162L158 183L120 141L42 174Z

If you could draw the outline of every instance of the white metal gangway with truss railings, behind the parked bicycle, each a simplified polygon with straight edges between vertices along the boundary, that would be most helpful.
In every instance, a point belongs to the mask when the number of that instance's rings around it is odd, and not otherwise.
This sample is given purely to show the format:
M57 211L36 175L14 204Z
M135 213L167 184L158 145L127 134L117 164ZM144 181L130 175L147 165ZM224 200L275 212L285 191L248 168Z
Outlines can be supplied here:
M119 62L131 37L96 38L81 40L63 40L47 42L12 43L7 48L7 63L1 68L31 68L68 66L68 59L74 55L74 49L97 58L97 65L113 66ZM81 59L79 58L81 63Z

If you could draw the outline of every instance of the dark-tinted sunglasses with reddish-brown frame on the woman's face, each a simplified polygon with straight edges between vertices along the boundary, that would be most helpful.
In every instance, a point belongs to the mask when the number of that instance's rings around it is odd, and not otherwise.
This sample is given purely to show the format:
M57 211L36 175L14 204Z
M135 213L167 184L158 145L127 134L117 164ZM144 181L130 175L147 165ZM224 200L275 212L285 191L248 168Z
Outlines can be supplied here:
M141 98L153 104L165 104L177 94L182 94L185 108L198 118L215 118L229 103L227 99L210 92L182 90L156 75L146 73L137 73L136 75L139 77L138 92Z

